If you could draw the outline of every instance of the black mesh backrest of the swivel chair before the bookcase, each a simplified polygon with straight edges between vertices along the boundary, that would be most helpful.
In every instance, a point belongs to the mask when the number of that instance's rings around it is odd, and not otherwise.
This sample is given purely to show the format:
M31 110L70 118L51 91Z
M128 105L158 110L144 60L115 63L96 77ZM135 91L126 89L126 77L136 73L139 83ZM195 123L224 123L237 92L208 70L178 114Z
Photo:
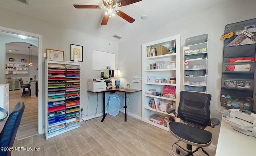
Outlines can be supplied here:
M200 92L180 92L178 115L186 124L204 129L210 123L210 101L212 95Z

